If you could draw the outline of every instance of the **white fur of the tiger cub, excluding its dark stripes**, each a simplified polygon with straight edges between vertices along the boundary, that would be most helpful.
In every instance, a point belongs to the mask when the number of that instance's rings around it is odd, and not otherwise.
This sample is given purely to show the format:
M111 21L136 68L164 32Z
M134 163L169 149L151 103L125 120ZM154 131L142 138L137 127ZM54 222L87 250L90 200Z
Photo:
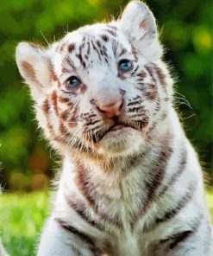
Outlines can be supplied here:
M156 84L158 85L161 109L156 115L153 115L156 102L143 99L141 105L144 106L146 110L149 123L142 134L132 128L125 128L122 134L114 132L114 135L106 136L100 141L99 147L95 149L95 154L103 159L103 163L106 165L110 164L110 161L114 161L113 168L108 172L104 170L101 161L98 162L86 154L81 155L78 150L73 151L69 141L67 141L67 145L53 142L53 145L60 150L60 154L63 156L64 160L60 175L59 189L53 206L53 214L47 221L46 227L41 234L38 256L75 255L73 246L78 248L81 255L95 255L91 253L89 245L83 243L74 234L62 229L55 222L55 218L62 219L72 225L72 227L76 227L78 231L89 235L92 239L96 240L97 247L108 252L110 256L149 256L153 253L151 246L158 240L166 239L175 231L184 232L190 229L190 221L194 220L197 214L202 214L203 219L201 220L199 230L193 238L191 236L185 243L180 243L179 250L175 250L174 253L171 251L165 254L165 248L162 246L154 255L204 255L202 254L204 253L204 240L201 240L201 238L204 239L204 235L208 233L206 223L209 223L210 220L207 214L206 202L204 201L204 184L201 168L197 161L197 155L187 138L185 138L185 133L179 123L178 115L172 106L172 78L167 71L166 65L160 60L162 48L158 40L157 27L153 14L144 3L133 1L130 2L126 10L124 10L121 20L111 22L110 24L117 28L116 39L122 42L123 48L128 49L127 53L122 55L122 59L134 61L134 54L130 54L131 49L134 47L139 56L137 61L139 67L145 67L146 64L153 62L160 67L163 74L165 74L165 87L160 85L158 74L153 74L153 78L157 80ZM103 105L106 106L109 105L110 102L119 100L121 97L119 93L120 89L126 91L125 100L127 102L130 102L131 99L134 99L134 97L139 94L139 91L135 88L134 77L129 76L127 80L121 80L117 76L116 65L121 58L114 56L110 42L105 42L104 44L110 59L109 65L98 60L98 54L94 51L94 53L90 55L90 61L93 61L93 64L85 70L81 67L80 61L76 55L72 53L72 61L74 61L78 73L76 74L73 70L67 72L67 74L62 73L61 66L64 55L63 52L56 52L56 48L64 42L75 42L76 45L78 45L81 43L84 35L99 38L98 36L103 34L105 28L104 23L98 23L78 29L75 32L67 34L61 42L56 42L47 50L36 50L26 43L20 44L16 50L18 67L24 79L31 86L39 125L50 141L53 140L52 134L47 130L47 119L43 117L42 103L48 93L57 90L57 86L47 80L49 71L47 71L47 62L44 61L44 58L47 58L53 63L54 70L57 76L60 77L63 89L66 90L65 80L71 75L78 75L78 77L82 79L82 82L87 85L86 93L77 91L76 98L70 99L74 104L80 102L79 113L84 114L84 112L92 109L90 103L92 98L103 102ZM129 42L132 42L132 45ZM39 83L34 83L34 81L30 80L22 71L22 61L28 61L35 68ZM47 82L47 87L45 88L40 86L44 81ZM147 76L144 79L144 83L150 82L152 82L152 79L150 76ZM168 99L167 101L164 100L166 97ZM61 104L60 109L64 110L63 107L65 106ZM92 111L96 112L94 109L92 109ZM51 106L50 112L49 122L53 125L54 132L60 135L60 122L53 112L53 106ZM167 113L164 120L160 119L162 112ZM122 122L126 122L129 117L127 113L123 113L121 118ZM146 135L146 131L152 127L156 120L156 127L149 134L152 137L152 139L150 139ZM110 123L104 123L102 119L100 119L99 122L103 127L110 125ZM82 139L85 146L89 146L88 142L82 138L81 132L83 131L84 125L84 120L80 119L78 120L77 127L73 128L71 131L77 138ZM133 215L141 205L147 202L145 184L147 178L152 177L150 170L153 168L154 161L159 157L164 138L169 137L169 131L172 131L171 143L173 153L166 165L166 174L163 182L160 183L155 193L160 192L160 189L166 185L168 179L179 167L180 150L183 145L185 145L188 156L185 170L177 178L177 181L168 188L166 195L162 198L157 198L144 216L138 221L135 221L135 228L132 229L131 220L133 219ZM129 170L123 173L122 170L125 170L125 161L139 154L141 154L141 157L145 155L141 163L135 168L129 167ZM82 192L78 188L76 183L78 173L75 169L75 160L79 156L81 162L90 170L89 176L91 183L97 188L99 195L104 195L98 201L97 208L102 214L107 215L109 219L119 216L124 226L122 232L111 223L103 221L95 210L92 210L89 203L85 200L85 196L82 195ZM186 189L190 184L195 184L196 188L194 189L194 195L192 195L191 201L185 208L171 220L153 229L153 232L143 232L143 229L152 225L152 221L156 217L162 217L165 214L166 208L172 209L172 207L175 206L179 198L185 195L185 192L187 192ZM91 219L97 221L97 223L101 223L104 227L103 230L91 227L91 225L82 220L81 217L67 205L66 196L72 197L73 195L77 196L80 201L85 203L87 216L90 216ZM96 197L97 195L94 194L93 196ZM106 241L110 241L111 248L104 247ZM186 253L185 250L189 245L193 245L195 249ZM210 246L212 246L212 243ZM205 255L210 256L211 252L209 251L209 254Z

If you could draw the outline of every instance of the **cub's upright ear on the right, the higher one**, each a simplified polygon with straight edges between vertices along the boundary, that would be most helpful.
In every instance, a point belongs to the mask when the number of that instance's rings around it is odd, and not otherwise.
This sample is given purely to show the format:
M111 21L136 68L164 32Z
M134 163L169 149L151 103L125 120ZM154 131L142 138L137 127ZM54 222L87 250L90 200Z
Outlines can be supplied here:
M122 13L121 29L135 49L148 61L157 61L163 54L153 13L145 3L132 1Z

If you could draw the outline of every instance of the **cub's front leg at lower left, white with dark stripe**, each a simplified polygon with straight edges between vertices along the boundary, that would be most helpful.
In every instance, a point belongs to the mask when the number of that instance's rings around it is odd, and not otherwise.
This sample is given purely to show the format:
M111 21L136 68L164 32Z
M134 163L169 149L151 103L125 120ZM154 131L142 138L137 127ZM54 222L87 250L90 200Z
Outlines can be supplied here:
M47 221L37 256L97 256L100 255L91 238L75 227L53 216Z

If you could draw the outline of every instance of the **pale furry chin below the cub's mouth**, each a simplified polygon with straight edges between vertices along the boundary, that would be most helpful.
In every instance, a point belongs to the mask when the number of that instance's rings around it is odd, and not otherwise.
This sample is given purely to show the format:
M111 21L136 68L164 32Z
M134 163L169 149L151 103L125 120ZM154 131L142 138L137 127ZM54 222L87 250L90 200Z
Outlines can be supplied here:
M106 157L128 157L139 153L144 144L140 131L130 127L108 132L98 143L97 153Z

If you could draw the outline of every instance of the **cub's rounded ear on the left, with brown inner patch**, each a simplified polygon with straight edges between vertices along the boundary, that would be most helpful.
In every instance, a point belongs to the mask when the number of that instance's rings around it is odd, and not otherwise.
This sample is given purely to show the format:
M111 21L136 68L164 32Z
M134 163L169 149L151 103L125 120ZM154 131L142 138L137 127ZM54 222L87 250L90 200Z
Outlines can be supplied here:
M33 43L20 42L16 48L16 63L30 87L33 99L41 98L53 80L53 69L47 50Z

